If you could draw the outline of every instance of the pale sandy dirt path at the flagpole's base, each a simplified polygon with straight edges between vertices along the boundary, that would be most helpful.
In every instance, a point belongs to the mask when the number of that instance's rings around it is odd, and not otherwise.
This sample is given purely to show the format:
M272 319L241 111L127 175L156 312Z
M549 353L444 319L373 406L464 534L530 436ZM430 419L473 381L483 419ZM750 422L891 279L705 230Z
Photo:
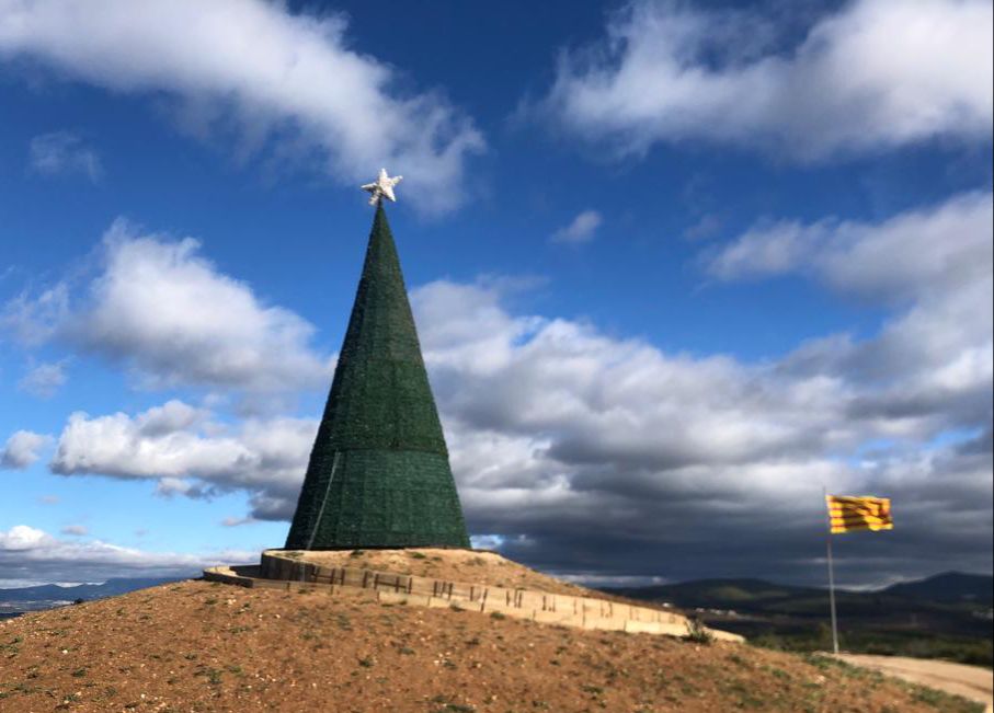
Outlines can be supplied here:
M987 711L994 711L994 672L987 668L901 656L842 654L839 658L905 681L972 699L983 703Z

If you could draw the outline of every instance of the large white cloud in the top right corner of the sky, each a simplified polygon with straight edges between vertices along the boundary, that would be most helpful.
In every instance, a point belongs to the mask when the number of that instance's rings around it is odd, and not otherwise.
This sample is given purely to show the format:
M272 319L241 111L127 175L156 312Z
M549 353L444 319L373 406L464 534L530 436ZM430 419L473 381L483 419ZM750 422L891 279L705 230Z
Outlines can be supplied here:
M857 0L800 44L754 11L637 0L608 39L563 55L544 108L621 154L697 139L801 160L934 138L990 141L986 0Z

